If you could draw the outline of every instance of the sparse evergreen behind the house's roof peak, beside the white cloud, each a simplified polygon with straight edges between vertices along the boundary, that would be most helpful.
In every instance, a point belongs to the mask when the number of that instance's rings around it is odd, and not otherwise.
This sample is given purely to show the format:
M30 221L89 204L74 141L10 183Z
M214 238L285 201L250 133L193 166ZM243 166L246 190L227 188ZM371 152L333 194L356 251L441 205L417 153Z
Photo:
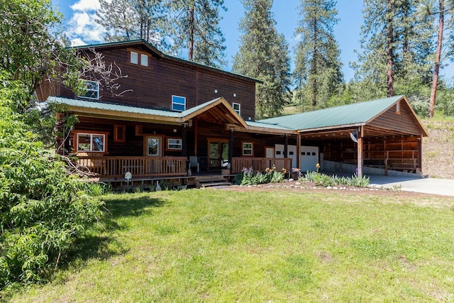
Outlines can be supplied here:
M96 22L104 26L106 41L144 39L167 50L165 21L168 6L161 0L99 0Z

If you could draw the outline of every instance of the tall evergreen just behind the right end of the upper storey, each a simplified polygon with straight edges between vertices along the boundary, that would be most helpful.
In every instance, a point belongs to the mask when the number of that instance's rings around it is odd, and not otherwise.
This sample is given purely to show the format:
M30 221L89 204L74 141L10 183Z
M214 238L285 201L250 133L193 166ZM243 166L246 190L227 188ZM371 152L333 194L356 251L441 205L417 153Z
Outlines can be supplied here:
M233 72L262 79L255 94L258 119L278 116L289 101L290 59L284 35L272 17L272 0L243 0L240 49L233 58Z

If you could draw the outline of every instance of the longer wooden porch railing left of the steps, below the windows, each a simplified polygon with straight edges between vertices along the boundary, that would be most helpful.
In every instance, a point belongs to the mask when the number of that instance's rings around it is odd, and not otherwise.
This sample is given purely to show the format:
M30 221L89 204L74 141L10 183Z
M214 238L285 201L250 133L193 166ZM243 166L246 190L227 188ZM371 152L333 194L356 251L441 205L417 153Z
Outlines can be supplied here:
M186 157L79 156L77 166L96 177L160 177L187 175Z

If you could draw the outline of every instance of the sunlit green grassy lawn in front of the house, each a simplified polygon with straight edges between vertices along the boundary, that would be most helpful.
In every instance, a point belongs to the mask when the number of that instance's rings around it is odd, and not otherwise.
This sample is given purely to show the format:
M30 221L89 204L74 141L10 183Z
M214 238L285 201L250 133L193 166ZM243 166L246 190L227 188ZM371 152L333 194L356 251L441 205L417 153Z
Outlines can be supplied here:
M48 285L12 302L454 302L454 199L116 194Z

